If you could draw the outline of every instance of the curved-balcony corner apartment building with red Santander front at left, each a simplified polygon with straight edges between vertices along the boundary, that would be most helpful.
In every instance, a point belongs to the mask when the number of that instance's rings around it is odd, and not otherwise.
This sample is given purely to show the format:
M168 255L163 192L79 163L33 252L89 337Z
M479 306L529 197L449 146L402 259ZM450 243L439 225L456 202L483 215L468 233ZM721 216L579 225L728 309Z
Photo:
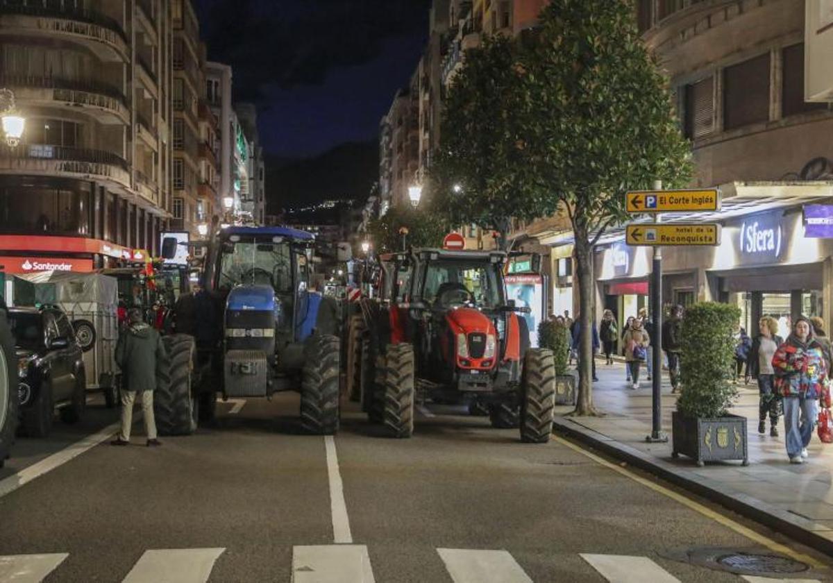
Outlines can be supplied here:
M17 147L0 145L6 272L90 271L157 252L172 210L166 7L0 0L0 87L27 120Z

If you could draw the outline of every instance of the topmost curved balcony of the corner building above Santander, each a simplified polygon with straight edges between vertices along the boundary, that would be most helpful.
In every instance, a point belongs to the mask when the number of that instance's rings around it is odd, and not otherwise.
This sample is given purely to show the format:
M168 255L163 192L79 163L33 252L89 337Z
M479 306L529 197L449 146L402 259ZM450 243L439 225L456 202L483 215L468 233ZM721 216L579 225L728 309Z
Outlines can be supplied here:
M127 61L127 35L113 18L72 6L22 6L0 0L0 33L70 37L83 42L102 61Z

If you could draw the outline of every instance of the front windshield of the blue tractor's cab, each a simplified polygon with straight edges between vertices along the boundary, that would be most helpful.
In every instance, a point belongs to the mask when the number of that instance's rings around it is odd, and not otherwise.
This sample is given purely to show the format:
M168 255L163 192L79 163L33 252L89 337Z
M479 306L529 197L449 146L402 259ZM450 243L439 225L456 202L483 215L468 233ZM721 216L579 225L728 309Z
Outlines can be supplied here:
M289 243L243 240L225 242L220 259L219 287L263 284L278 293L292 291Z

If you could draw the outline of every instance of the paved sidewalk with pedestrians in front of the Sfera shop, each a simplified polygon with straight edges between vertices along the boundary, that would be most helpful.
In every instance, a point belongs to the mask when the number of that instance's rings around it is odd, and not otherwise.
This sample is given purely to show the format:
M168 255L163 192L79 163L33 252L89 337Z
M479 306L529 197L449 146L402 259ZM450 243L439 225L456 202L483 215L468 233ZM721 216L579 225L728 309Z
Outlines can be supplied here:
M814 434L805 464L790 464L784 445L784 422L779 437L758 434L758 388L755 381L741 383L741 396L731 412L746 416L749 466L740 461L696 462L671 457L671 395L667 372L662 386L662 428L667 443L648 443L651 434L651 383L641 372L641 387L626 385L625 366L596 362L599 381L594 383L593 400L603 417L566 417L571 406L556 407L555 431L583 441L631 466L654 473L686 490L783 532L797 541L833 555L833 444L826 445Z

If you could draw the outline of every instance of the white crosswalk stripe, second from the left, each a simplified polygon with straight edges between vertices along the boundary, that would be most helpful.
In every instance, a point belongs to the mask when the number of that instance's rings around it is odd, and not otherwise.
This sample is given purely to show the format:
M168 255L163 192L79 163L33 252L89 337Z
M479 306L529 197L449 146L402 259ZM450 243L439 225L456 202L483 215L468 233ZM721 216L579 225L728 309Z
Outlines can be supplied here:
M122 583L205 583L226 549L145 551Z

